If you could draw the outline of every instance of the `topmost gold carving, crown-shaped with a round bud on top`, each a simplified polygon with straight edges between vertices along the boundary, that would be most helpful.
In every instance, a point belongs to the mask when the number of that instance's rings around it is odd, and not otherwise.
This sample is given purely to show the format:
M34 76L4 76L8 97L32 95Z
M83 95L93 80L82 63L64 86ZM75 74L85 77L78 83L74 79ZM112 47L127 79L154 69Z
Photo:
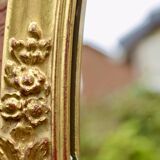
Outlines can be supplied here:
M41 30L35 22L28 27L29 38L10 39L10 53L20 62L28 65L43 63L51 51L51 39L41 39Z

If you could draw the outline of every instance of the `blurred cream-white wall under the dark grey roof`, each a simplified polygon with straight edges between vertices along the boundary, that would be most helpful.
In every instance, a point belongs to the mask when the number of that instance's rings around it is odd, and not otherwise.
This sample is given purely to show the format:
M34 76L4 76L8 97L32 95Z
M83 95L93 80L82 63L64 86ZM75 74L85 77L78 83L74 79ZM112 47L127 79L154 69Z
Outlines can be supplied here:
M160 92L160 30L145 38L134 55L135 67L142 75L142 85L149 90Z

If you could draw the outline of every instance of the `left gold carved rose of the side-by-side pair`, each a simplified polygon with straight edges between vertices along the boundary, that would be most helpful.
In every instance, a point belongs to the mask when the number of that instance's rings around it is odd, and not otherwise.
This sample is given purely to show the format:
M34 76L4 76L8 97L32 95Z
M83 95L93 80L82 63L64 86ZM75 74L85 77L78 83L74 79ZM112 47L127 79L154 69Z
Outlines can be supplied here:
M19 119L22 116L22 105L23 101L18 94L5 94L0 105L1 116L5 119Z

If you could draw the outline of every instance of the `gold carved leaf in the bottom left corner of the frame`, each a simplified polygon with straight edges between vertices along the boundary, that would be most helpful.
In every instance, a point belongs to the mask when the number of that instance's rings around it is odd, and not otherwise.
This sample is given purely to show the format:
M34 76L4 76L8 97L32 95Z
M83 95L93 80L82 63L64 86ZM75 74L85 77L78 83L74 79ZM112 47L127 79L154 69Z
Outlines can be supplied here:
M4 138L0 138L0 160L21 160L20 153L13 143Z

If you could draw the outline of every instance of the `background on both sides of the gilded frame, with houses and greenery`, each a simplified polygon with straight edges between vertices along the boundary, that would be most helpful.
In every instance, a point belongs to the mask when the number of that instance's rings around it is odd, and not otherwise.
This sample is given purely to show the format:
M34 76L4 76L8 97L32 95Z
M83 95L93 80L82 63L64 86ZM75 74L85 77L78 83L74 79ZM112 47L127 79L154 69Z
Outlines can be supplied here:
M81 160L160 160L160 0L87 0L80 109Z

